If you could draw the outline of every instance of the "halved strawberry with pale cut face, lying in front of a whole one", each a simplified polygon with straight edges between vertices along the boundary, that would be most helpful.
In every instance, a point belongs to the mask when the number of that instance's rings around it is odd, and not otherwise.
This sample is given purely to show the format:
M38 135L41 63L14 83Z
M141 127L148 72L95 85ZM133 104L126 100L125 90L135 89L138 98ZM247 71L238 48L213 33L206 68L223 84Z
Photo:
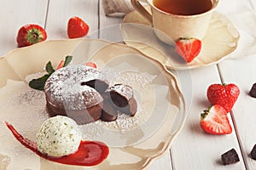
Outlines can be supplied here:
M201 128L211 134L230 134L232 127L226 111L221 105L213 105L201 113Z

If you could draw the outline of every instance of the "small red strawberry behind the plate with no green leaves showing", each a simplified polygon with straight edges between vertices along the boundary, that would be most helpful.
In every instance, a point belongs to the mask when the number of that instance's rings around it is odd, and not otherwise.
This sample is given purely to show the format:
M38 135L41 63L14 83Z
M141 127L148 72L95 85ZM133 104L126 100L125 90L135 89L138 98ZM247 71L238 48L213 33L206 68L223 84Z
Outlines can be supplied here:
M89 31L89 26L77 16L72 17L67 23L67 35L69 38L84 37Z

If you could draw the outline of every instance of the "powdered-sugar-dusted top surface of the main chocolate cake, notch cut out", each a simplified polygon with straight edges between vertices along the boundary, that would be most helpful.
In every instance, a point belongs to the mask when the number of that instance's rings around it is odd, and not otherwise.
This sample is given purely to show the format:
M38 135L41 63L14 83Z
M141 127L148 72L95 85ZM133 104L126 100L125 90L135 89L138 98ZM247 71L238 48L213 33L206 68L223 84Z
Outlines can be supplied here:
M49 102L67 110L82 110L102 102L102 96L83 82L106 78L100 71L86 65L70 65L55 71L45 82Z

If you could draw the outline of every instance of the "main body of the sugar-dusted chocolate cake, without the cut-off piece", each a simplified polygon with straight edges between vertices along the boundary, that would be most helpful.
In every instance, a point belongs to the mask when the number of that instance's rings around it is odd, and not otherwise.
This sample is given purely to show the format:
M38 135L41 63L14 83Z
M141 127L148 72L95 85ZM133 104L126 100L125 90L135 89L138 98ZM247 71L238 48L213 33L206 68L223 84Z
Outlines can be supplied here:
M102 116L102 91L108 81L100 71L86 65L71 65L55 71L45 82L44 93L50 116L63 115L78 124Z

